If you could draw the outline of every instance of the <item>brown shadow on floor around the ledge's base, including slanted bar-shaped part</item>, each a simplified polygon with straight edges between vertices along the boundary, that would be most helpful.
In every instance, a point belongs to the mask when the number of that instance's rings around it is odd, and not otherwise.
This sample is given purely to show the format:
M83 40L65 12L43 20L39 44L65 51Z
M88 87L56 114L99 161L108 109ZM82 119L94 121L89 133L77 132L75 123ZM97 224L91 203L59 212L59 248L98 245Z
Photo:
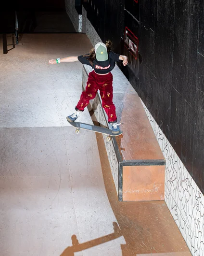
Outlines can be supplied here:
M160 255L191 256L165 201L119 202L111 173L102 134L96 133L102 175L106 193L115 214L114 233L79 244L75 235L72 246L61 256L74 256L75 252L109 242L123 236L126 244L121 244L123 256ZM107 245L108 246L108 245Z

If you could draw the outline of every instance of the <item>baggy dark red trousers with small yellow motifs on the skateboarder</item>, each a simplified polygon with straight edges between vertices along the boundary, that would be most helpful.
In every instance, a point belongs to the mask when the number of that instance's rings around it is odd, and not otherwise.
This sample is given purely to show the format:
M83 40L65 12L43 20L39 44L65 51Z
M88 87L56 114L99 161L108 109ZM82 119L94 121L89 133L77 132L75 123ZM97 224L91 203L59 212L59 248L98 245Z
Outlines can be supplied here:
M89 104L89 100L96 97L98 90L100 90L102 98L102 107L108 115L108 122L117 122L113 103L113 75L111 72L106 75L99 75L95 71L89 73L86 89L82 92L76 109L84 111L84 108Z

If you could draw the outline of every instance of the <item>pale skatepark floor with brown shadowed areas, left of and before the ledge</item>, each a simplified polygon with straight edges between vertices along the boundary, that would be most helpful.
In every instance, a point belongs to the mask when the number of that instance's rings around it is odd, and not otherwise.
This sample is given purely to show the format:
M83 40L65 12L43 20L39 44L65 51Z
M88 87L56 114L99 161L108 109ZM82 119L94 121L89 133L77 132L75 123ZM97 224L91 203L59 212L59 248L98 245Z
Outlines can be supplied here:
M118 202L102 136L66 121L82 65L47 62L90 48L24 34L0 52L0 256L190 256L165 202Z

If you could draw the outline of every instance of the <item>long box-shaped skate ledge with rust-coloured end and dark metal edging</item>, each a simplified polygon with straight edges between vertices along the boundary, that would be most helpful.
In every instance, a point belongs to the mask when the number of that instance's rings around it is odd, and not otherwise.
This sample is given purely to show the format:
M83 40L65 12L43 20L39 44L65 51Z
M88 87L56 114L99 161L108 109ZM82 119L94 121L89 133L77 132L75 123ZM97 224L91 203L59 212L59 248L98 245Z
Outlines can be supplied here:
M92 69L84 65L82 86L85 89ZM165 159L137 92L116 66L114 104L123 134L110 142L103 135L108 159L120 201L164 200ZM110 127L97 93L90 105L98 122Z

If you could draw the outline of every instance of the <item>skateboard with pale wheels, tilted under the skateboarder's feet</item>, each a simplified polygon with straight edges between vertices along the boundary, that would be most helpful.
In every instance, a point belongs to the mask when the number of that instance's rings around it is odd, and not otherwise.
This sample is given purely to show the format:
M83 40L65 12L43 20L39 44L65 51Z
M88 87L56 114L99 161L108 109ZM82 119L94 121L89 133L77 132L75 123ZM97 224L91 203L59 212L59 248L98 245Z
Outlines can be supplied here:
M68 120L67 120L68 121ZM68 121L69 122L69 121ZM111 137L115 137L115 136L119 136L121 135L123 132L120 130L119 133L114 134L112 133L112 130L110 130L109 128L103 128L100 126L95 126L95 125L88 125L85 123L79 123L79 122L69 122L73 127L76 128L76 134L79 133L80 129L85 129L85 130L89 130L89 131L94 131L94 132L99 132L102 134L106 134L108 135L106 140L109 142L111 140Z

